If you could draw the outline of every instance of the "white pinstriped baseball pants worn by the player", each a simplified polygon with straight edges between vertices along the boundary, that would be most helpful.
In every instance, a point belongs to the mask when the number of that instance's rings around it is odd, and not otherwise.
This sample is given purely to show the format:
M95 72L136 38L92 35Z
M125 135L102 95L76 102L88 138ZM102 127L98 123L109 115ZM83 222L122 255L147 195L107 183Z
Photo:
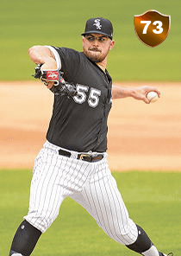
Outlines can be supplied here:
M28 215L31 225L44 233L59 214L66 196L82 205L110 238L124 245L133 244L138 237L137 227L117 189L107 164L102 160L89 163L59 155L59 147L49 142L35 159L31 182ZM64 150L64 149L63 149Z

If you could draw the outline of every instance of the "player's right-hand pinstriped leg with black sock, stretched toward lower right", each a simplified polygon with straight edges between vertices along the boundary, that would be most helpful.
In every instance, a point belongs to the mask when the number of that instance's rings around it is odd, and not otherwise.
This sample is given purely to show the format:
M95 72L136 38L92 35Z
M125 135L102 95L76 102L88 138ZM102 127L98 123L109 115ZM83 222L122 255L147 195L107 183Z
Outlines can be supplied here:
M72 195L112 239L145 256L161 256L146 232L128 216L128 210L106 163L95 164L95 174L82 193Z

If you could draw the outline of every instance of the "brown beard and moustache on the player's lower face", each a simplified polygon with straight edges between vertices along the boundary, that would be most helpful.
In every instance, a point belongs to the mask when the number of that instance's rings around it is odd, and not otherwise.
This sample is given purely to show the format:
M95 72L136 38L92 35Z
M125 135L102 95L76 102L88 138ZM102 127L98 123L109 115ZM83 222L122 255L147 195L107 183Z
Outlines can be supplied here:
M90 47L88 49L84 48L83 52L88 57L88 59L93 62L102 62L108 54L108 52L103 54L100 49L95 47Z

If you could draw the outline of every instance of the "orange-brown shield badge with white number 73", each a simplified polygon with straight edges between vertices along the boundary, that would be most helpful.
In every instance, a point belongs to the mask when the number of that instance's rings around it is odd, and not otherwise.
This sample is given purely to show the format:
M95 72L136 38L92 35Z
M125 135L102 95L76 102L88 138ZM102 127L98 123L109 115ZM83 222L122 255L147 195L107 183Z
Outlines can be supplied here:
M148 47L156 47L164 42L171 27L171 16L165 16L157 10L147 10L140 16L134 16L134 30L140 42Z

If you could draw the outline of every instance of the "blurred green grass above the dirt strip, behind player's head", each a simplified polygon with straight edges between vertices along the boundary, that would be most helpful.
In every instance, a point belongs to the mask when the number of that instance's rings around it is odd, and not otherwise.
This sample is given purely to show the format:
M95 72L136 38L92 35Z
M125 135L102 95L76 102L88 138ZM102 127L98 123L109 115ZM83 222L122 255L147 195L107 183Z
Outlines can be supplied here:
M171 30L156 48L145 46L134 33L134 15L158 10L171 16ZM82 50L84 24L103 16L113 22L115 49L109 54L109 73L119 81L180 81L180 0L66 0L1 1L0 80L34 80L28 58L33 45Z

